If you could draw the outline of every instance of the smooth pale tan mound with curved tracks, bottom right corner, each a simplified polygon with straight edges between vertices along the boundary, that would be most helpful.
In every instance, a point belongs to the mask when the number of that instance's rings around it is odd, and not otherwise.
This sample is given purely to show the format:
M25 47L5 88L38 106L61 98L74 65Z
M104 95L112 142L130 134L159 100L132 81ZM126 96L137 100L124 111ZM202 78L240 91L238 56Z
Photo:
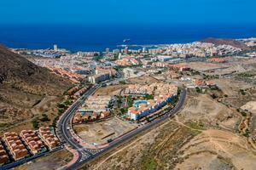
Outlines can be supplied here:
M234 133L209 129L184 144L176 169L255 169L256 156L247 140Z

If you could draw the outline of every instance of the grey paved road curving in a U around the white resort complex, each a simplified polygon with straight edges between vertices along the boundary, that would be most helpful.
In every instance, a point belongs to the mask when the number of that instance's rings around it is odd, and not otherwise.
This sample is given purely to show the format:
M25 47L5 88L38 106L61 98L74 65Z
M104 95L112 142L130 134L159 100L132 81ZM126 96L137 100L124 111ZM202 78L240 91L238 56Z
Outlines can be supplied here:
M98 86L90 88L90 90L86 94L84 94L83 98L79 99L79 101L77 101L75 104L73 104L72 107L66 112L66 115L61 117L61 120L59 122L58 130L61 133L61 140L66 141L67 144L71 145L79 153L78 161L76 161L71 167L67 167L66 169L79 168L84 163L96 158L96 156L100 156L100 155L106 153L108 150L112 150L113 148L117 147L119 144L123 144L125 141L127 141L128 139L131 139L138 133L142 133L143 131L148 130L150 127L153 127L154 125L165 121L166 118L168 118L169 116L173 116L174 114L177 113L177 111L179 111L181 109L181 107L183 106L183 102L186 98L186 90L183 89L181 91L181 94L177 101L177 105L175 105L175 107L173 107L171 111L167 111L166 115L160 116L160 117L154 119L153 122L150 122L150 123L144 125L143 127L139 127L139 128L137 128L137 130L132 131L131 133L127 133L119 139L113 140L113 142L110 143L109 146L107 148L105 148L104 150L88 150L88 149L85 149L83 146L81 146L79 143L77 143L73 139L73 136L70 133L70 131L68 130L68 127L70 127L69 122L72 119L74 112L78 109L79 105L81 105L82 102L84 101L84 99L86 99L88 96L90 96L90 94L94 93L96 91L97 87Z

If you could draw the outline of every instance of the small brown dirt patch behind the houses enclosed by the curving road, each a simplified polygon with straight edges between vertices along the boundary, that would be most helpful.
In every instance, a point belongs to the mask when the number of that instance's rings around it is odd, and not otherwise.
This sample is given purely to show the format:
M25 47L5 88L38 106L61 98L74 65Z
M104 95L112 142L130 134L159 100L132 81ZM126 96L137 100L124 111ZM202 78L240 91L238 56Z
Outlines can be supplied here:
M114 86L103 87L103 88L99 88L94 95L95 96L119 95L120 91L125 88L127 88L127 85L114 85Z

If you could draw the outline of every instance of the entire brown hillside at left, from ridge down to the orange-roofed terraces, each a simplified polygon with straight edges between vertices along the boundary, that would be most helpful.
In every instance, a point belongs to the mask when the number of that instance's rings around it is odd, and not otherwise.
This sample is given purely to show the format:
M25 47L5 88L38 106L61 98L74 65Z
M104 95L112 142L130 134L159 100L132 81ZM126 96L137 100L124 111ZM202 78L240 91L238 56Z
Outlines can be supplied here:
M69 80L0 46L0 130L37 114L55 114L56 103L70 85Z

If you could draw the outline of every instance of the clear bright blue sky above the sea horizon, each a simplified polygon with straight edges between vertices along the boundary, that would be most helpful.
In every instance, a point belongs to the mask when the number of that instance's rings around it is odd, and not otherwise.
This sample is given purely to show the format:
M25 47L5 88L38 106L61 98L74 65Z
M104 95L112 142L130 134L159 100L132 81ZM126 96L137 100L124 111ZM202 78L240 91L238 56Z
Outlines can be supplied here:
M255 0L1 0L0 24L255 24L255 7Z

